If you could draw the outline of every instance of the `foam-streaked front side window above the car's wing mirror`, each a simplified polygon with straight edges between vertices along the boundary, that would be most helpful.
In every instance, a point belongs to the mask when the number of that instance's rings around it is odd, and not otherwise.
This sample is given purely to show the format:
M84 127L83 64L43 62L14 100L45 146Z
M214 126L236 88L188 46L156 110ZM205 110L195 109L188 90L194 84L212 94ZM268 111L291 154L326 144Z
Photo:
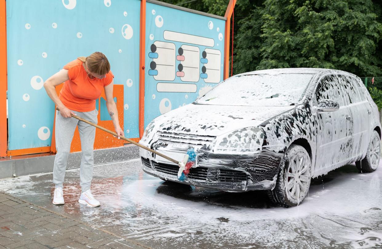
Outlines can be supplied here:
M330 74L324 76L317 85L316 88L316 99L314 105L317 105L323 99L331 99L337 102L340 106L344 105L342 97L342 84L338 80L338 76L335 74Z

